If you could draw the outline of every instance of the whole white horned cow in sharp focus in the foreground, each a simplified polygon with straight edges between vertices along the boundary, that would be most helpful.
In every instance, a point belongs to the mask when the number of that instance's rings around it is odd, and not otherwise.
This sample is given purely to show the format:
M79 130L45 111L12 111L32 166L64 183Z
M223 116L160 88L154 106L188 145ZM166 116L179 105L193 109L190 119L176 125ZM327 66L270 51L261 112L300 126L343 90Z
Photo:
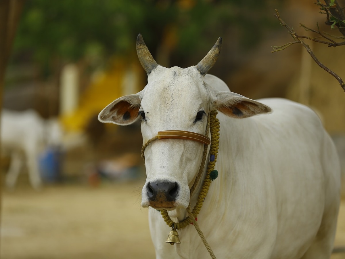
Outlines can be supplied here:
M166 130L203 135L213 110L220 112L219 176L210 185L197 222L215 256L329 258L340 201L339 159L331 138L308 107L279 98L248 99L207 75L220 47L221 38L196 66L165 68L139 35L137 52L147 85L99 114L101 122L119 125L142 120L147 180L141 205L149 207L156 258L210 257L190 224L177 229L180 244L165 243L170 227L159 212L166 209L174 222L188 216L186 208L196 204L206 177L205 165L190 197L204 145L154 137ZM257 114L264 115L253 116Z

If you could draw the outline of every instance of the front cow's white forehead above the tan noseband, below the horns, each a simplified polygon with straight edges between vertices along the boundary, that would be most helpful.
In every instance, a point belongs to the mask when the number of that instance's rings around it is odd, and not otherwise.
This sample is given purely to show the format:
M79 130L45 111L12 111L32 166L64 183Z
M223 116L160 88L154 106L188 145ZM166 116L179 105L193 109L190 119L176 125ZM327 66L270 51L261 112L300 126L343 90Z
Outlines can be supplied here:
M172 129L205 133L202 130L206 124L195 122L195 118L199 111L209 112L213 93L194 67L158 67L148 77L142 94L139 109L145 112L142 130L146 129L145 125L149 127L151 137L157 135L157 131ZM142 133L148 134L147 130Z

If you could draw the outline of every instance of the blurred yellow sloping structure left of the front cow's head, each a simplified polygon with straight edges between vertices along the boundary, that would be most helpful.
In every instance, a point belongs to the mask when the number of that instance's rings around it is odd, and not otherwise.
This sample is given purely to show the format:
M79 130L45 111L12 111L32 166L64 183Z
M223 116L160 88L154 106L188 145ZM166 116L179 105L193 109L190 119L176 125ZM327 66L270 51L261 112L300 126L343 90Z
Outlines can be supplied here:
M82 132L92 116L122 95L135 94L144 86L144 76L139 62L124 60L113 62L111 69L95 76L95 79L81 94L77 109L61 116L61 123L67 132Z

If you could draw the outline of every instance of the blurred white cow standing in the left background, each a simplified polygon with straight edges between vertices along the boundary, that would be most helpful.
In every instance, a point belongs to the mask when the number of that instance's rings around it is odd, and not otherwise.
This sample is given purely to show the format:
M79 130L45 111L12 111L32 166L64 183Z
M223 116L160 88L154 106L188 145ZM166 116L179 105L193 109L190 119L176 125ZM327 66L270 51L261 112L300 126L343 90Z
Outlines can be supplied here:
M6 185L14 187L25 162L32 187L39 189L42 185L39 155L46 147L59 145L61 138L62 130L57 120L44 120L32 109L23 112L4 109L1 113L1 149L11 157Z

